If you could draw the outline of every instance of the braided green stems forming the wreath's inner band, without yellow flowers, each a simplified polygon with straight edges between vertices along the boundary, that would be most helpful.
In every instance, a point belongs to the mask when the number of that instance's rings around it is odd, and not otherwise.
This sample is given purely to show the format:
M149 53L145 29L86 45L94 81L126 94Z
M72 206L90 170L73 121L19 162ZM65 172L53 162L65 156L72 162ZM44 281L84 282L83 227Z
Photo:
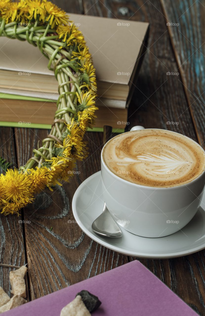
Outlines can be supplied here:
M52 129L43 139L41 147L33 150L34 156L27 161L25 166L19 168L24 171L36 166L40 167L46 159L52 158L53 143L62 144L61 136L66 129L65 123L69 124L72 115L76 114L76 91L79 94L81 92L78 69L71 62L69 52L61 49L59 54L60 48L65 47L65 43L55 40L59 36L49 28L49 24L47 27L37 26L37 24L36 21L34 26L22 27L16 21L8 24L5 24L4 20L0 21L0 36L27 40L30 44L38 46L41 53L49 59L48 69L54 71L59 83L59 98Z

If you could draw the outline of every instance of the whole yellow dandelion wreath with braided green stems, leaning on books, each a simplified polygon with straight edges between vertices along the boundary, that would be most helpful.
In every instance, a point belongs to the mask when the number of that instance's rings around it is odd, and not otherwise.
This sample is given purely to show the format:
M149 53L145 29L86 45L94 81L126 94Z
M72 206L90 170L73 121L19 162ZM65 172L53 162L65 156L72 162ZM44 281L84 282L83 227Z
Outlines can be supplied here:
M50 134L24 166L0 176L1 213L19 215L36 193L67 181L76 161L88 155L83 136L95 117L96 76L83 34L49 1L1 0L0 36L38 46L59 83Z

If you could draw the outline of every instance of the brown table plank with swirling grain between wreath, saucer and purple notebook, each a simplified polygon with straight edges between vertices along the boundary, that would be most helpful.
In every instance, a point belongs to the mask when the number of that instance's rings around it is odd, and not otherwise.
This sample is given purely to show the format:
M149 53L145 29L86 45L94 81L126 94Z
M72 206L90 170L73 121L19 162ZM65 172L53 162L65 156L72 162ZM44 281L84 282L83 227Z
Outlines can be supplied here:
M31 155L31 143L45 137L46 131L21 129L17 144L27 150L19 152L19 164ZM37 298L67 285L128 262L128 258L106 249L86 236L75 222L71 201L77 187L100 169L102 133L87 133L90 157L78 163L71 183L41 192L24 210L26 249L31 298ZM23 147L23 146L22 146ZM52 227L52 230L51 230Z

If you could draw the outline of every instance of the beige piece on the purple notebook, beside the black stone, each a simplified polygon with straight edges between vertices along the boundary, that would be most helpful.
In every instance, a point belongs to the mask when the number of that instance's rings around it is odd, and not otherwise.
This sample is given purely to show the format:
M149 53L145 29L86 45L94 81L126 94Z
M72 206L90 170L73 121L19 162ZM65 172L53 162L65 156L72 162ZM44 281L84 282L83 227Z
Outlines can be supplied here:
M61 309L60 316L91 316L80 295Z

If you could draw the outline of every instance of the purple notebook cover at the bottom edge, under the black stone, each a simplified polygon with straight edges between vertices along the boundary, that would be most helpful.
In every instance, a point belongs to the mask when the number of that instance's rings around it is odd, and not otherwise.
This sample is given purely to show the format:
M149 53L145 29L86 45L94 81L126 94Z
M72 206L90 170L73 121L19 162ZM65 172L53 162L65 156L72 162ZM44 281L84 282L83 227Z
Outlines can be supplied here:
M83 289L97 295L102 302L92 316L198 315L137 260L3 314L5 316L59 316L61 309Z

